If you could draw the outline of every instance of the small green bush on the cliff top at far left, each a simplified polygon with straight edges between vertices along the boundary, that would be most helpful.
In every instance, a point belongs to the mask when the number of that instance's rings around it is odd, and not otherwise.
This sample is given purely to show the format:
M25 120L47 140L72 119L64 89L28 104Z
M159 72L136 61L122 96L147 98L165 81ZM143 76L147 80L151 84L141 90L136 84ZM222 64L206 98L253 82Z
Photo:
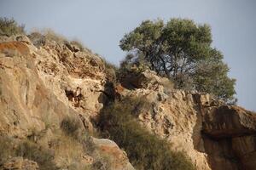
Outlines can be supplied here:
M14 19L0 17L0 36L25 34L24 25L19 25Z

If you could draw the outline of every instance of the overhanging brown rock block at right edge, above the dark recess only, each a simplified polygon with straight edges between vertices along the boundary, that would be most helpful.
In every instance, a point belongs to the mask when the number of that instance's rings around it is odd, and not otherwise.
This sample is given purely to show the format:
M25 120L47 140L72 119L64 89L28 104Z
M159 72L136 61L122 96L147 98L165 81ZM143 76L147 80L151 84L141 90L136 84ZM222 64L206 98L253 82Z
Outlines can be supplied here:
M204 133L214 138L256 133L256 115L238 106L214 107L203 116Z

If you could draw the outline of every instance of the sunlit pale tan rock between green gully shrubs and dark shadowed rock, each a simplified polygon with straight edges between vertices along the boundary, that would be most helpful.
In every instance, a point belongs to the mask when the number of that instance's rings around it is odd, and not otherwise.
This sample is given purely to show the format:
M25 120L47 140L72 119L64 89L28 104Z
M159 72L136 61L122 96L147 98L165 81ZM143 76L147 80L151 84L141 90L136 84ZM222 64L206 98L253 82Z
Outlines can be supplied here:
M201 110L193 94L183 90L172 90L165 94L165 99L159 99L160 91L138 88L128 93L152 104L151 107L145 105L138 108L138 119L149 131L167 139L173 150L185 152L195 167L211 169L201 137Z

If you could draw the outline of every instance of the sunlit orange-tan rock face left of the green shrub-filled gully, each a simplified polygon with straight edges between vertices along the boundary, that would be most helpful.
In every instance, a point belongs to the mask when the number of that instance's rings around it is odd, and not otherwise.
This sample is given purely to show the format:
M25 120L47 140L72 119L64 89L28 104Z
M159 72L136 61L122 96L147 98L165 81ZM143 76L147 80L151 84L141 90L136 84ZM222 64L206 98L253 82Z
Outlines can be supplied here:
M39 150L49 150L59 169L134 169L113 141L87 142L61 130L62 120L73 117L83 131L93 133L92 120L108 99L101 58L55 41L35 47L25 36L0 39L0 136L29 140ZM0 150L8 154L1 146ZM3 169L41 169L42 162L8 157L1 162Z

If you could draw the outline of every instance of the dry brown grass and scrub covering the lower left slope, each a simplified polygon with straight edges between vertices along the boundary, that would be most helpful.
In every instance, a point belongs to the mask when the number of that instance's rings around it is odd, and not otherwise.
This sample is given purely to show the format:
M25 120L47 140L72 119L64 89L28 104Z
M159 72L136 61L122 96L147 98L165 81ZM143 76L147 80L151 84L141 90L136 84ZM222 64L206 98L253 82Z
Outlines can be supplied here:
M102 165L108 169L110 166L110 158L96 150L90 134L75 117L67 116L60 127L49 126L41 132L31 129L31 132L26 139L0 136L0 167L16 156L36 161L40 170L90 170ZM84 156L92 156L93 161L84 161Z

